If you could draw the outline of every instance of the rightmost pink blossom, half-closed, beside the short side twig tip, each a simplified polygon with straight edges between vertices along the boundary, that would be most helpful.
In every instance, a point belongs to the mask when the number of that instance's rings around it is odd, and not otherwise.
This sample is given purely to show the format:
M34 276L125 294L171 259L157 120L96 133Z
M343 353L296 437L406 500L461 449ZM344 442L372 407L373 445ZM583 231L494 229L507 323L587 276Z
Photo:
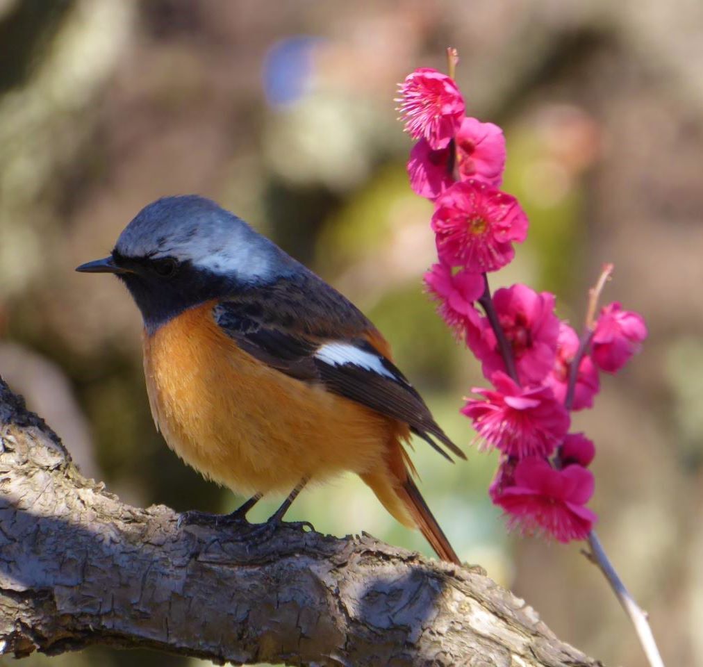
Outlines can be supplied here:
M617 373L647 337L647 325L639 313L624 311L618 302L603 306L593 333L593 361L600 370Z

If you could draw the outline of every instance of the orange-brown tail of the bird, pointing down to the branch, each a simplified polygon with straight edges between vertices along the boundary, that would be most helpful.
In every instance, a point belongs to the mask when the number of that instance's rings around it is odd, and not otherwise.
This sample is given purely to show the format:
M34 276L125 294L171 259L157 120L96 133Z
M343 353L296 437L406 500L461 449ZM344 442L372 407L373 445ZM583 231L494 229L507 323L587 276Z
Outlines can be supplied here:
M392 450L389 471L376 471L361 474L361 479L371 487L382 505L401 524L409 528L419 528L434 552L442 560L460 565L456 552L451 547L437 519L432 516L425 498L420 494L415 482L408 474L406 453L401 445ZM409 461L408 461L409 463ZM412 464L410 464L412 465ZM389 474L390 473L390 474Z

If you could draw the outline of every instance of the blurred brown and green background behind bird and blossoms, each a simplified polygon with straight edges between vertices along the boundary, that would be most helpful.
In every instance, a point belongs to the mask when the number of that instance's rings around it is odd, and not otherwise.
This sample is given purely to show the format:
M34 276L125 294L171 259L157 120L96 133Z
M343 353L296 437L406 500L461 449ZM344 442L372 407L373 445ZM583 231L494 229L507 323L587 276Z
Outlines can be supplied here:
M460 557L562 639L644 665L579 545L506 534L486 494L496 460L470 448L458 414L483 380L422 293L431 209L408 186L393 102L396 82L444 70L456 46L467 112L504 127L503 189L531 218L493 286L552 290L579 326L588 286L614 261L605 299L650 326L576 427L598 448L605 548L666 661L703 664L701 34L699 0L0 0L0 373L125 501L233 509L240 498L155 432L127 292L73 271L155 198L212 197L356 302L467 448L453 466L421 442L414 456ZM288 516L431 553L357 479L306 491ZM200 664L101 648L51 663Z

